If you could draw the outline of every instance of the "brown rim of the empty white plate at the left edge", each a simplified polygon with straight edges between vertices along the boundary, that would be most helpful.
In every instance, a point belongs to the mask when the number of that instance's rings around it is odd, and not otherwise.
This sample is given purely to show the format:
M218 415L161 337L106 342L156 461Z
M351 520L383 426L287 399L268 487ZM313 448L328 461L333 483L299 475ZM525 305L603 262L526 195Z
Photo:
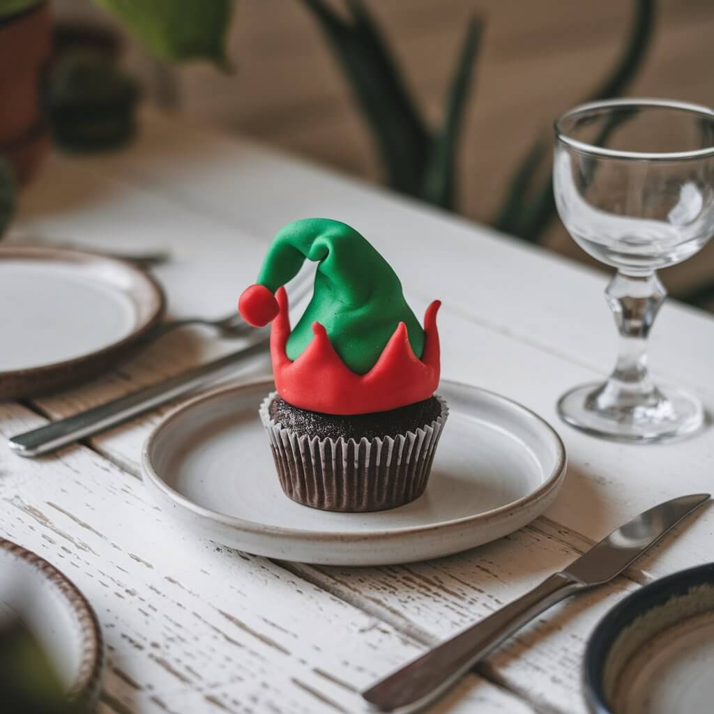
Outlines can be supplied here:
M129 335L126 335L99 350L94 350L67 360L51 362L38 367L24 367L4 371L0 370L0 386L3 381L11 382L16 380L26 380L28 378L41 378L55 371L69 372L88 362L93 362L94 360L99 360L108 356L114 351L121 351L138 341L141 337L148 333L151 328L154 328L166 312L166 293L164 293L164 288L161 287L159 281L157 281L156 278L149 273L149 271L141 270L141 268L137 268L129 261L122 260L121 258L105 256L101 253L94 253L92 251L77 251L74 250L74 248L53 248L51 246L32 245L0 246L0 262L12 260L14 258L24 258L26 260L33 261L49 261L53 263L79 263L80 265L87 265L91 263L104 263L105 265L109 264L110 266L114 266L114 268L120 268L121 270L127 271L135 278L139 278L139 280L144 281L154 297L155 304L149 318L147 318L138 328L134 328Z

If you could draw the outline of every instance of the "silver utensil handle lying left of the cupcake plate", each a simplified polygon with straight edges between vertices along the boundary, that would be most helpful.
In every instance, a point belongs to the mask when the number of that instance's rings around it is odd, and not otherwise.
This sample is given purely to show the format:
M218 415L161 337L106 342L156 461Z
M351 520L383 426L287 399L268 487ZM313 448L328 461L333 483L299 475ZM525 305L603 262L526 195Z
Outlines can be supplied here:
M266 351L270 341L262 331L256 341L237 352L231 352L206 364L193 367L158 384L137 389L126 396L81 411L46 426L26 431L8 440L8 446L19 456L41 456L86 436L105 431L134 416L165 404L221 376L233 374L236 364Z

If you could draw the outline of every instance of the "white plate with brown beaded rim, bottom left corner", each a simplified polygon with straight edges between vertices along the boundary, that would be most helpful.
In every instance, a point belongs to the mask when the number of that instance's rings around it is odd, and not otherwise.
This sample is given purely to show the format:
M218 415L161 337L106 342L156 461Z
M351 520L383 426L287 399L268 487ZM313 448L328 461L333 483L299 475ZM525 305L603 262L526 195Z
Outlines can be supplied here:
M104 650L94 610L44 558L0 538L0 618L17 617L48 655L67 698L94 705Z

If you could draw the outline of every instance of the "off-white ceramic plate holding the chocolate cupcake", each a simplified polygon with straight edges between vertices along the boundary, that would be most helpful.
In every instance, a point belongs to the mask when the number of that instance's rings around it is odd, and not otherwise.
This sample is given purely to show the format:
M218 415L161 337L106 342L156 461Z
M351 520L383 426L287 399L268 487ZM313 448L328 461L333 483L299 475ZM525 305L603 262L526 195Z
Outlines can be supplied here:
M449 381L426 493L376 513L316 511L278 483L258 405L271 381L214 391L167 416L144 446L144 481L196 535L270 558L383 565L501 538L550 506L565 477L553 428L506 398Z

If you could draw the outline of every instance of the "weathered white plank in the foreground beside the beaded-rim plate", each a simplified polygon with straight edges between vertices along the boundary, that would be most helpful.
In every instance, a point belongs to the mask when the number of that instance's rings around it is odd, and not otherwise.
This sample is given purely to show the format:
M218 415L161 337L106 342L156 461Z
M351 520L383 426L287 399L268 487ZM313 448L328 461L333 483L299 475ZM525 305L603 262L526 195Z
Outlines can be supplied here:
M0 408L3 436L41 422ZM141 481L86 448L41 461L4 450L0 475L3 535L64 570L99 615L105 709L357 711L360 688L420 649L279 565L187 538ZM475 702L530 710L478 678L453 710Z

